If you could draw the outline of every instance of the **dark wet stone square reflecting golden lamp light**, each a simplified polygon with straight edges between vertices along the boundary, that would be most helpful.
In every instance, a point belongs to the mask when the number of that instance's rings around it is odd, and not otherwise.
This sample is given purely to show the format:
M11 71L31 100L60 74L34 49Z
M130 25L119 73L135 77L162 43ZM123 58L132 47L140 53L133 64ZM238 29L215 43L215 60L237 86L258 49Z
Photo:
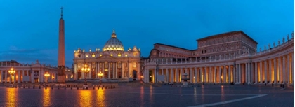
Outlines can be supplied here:
M265 95L263 97L256 97ZM256 97L253 99L244 99ZM237 99L244 99L237 101ZM263 85L201 85L199 87L131 87L120 84L114 89L77 90L73 88L6 88L0 87L0 106L274 106L293 107L294 87Z

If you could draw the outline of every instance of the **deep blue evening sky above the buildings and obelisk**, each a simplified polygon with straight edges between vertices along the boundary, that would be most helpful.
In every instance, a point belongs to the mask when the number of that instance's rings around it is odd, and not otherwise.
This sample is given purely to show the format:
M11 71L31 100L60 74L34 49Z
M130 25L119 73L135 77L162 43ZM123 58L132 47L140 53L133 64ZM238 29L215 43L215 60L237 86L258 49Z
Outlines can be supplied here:
M143 57L154 43L194 50L198 38L242 30L263 48L294 31L293 0L1 0L0 60L57 65L61 6L66 66L77 48L103 48L113 28L125 50L136 45Z

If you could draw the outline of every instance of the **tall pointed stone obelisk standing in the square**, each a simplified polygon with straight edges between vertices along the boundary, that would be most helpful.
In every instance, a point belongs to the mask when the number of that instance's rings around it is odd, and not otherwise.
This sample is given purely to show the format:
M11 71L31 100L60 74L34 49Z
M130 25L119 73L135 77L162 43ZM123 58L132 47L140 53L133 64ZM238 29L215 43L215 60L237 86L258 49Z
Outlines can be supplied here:
M58 37L58 83L65 83L65 21L63 20L63 7L60 14Z

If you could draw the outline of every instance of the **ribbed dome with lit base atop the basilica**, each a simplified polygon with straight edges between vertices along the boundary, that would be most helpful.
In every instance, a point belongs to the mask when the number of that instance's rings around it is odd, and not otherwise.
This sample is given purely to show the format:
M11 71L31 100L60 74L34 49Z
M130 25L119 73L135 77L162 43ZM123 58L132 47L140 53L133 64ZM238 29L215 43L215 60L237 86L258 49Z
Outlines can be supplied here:
M116 33L114 30L112 31L111 38L105 43L103 47L103 51L110 51L110 50L121 50L124 51L124 47L121 41L117 38Z

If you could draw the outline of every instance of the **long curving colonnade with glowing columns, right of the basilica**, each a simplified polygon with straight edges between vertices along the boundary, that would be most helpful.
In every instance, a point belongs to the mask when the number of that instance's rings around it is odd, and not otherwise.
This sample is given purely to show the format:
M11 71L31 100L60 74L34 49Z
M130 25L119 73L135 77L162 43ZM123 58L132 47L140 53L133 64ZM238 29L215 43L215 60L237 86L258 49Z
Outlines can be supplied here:
M157 83L157 76L164 75L165 82L178 83L182 82L183 73L187 73L190 83L294 84L294 52L264 59L194 63L158 64L158 68L155 64L145 66L143 80Z

